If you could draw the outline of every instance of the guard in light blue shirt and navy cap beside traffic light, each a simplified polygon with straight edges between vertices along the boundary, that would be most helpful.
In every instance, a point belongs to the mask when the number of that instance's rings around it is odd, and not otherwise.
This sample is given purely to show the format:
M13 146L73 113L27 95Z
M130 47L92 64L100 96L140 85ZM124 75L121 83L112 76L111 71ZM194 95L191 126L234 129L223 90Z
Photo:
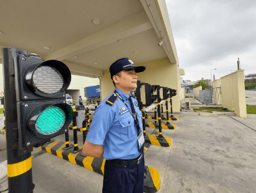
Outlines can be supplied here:
M115 91L95 110L83 154L104 157L102 192L143 193L145 162L141 112L130 91L137 88L136 73L145 66L134 66L121 58L109 67Z

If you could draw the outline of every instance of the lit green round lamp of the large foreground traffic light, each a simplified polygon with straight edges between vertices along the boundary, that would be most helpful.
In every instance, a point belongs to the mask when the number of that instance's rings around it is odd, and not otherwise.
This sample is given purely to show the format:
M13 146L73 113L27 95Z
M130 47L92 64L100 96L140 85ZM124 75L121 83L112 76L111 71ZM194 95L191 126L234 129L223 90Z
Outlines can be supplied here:
M50 106L38 116L35 130L42 135L51 135L63 127L65 120L66 115L63 109Z

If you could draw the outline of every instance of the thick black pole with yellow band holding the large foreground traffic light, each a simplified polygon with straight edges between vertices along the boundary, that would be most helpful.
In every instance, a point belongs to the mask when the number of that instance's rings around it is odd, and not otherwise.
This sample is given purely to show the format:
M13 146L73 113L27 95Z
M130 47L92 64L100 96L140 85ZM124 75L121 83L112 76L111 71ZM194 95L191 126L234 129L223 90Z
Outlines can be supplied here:
M26 51L18 51L27 55ZM18 144L18 114L16 105L16 84L14 64L16 53L10 48L3 48L3 75L5 92L5 120L7 137L7 175L10 193L33 192L35 185L32 177L32 148L23 150Z

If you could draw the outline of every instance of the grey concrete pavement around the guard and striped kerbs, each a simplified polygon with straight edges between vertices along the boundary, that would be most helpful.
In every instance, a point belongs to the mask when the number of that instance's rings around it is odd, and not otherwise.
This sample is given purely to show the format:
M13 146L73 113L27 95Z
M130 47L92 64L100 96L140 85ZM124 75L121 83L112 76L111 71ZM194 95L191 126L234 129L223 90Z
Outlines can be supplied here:
M163 131L171 147L150 146L145 154L145 164L160 172L158 192L255 192L256 119L241 123L236 116L175 116L176 129ZM148 134L154 130L146 129ZM5 142L0 135L0 148ZM79 138L78 145L82 143ZM0 162L6 159L6 150L0 151ZM102 175L49 153L33 159L34 193L102 192L102 180ZM6 187L0 185L0 190Z

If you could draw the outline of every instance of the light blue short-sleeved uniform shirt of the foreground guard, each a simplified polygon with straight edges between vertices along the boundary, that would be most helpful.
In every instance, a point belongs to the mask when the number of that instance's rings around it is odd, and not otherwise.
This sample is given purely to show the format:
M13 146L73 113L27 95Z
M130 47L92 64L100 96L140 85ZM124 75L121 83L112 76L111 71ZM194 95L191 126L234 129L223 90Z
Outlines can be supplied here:
M117 88L115 90L126 101L132 111L128 100L129 96ZM115 93L113 92L112 94ZM113 106L106 103L106 100L112 94L107 96L95 110L86 140L96 145L103 144L103 157L106 160L135 159L140 153L134 117L119 97L117 97ZM137 99L132 97L132 101L139 121L139 128L143 133L141 112L139 111Z

